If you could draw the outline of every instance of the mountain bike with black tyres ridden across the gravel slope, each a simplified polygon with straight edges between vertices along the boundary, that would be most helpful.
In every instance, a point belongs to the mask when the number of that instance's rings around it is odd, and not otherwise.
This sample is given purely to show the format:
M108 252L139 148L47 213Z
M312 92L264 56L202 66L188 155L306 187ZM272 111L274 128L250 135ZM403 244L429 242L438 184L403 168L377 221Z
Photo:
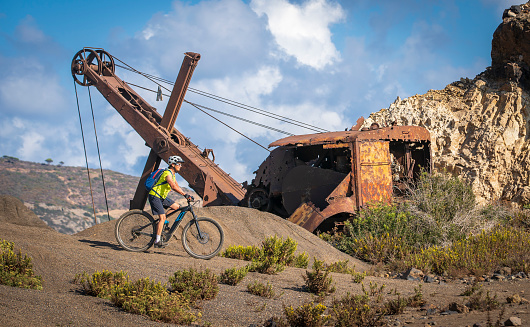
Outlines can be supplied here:
M191 220L182 229L182 246L194 258L211 259L223 246L223 229L212 218L197 217L193 211L193 205L198 201L192 203L191 199L187 200L187 206L167 214L162 231L162 241L166 244L169 243L186 213L191 212ZM167 220L177 213L177 218L169 227ZM151 214L143 210L129 210L116 222L114 229L116 240L125 250L146 251L155 243L158 221L159 219L154 219Z

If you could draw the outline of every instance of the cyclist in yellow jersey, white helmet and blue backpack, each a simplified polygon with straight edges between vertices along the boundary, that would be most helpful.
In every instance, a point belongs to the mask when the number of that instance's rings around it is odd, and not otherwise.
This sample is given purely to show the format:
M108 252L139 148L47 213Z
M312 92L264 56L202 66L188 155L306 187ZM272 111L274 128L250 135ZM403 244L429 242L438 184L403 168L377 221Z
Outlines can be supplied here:
M153 215L158 215L158 218L160 218L156 228L156 248L163 248L166 246L161 239L162 229L164 228L164 222L166 221L165 209L171 208L178 210L178 208L180 208L177 203L167 197L169 191L173 190L183 195L186 199L192 199L192 197L189 194L186 194L186 192L184 192L184 190L178 185L175 179L175 174L180 171L183 162L184 160L182 160L182 158L179 156L169 157L168 169L162 173L148 195L149 204L151 205L151 211Z

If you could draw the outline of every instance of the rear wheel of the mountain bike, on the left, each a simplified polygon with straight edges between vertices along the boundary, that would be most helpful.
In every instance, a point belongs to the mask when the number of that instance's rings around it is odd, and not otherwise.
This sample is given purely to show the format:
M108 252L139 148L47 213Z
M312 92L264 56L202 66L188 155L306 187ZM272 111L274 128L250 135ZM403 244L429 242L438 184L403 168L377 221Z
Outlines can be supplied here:
M125 250L142 252L155 242L155 220L142 210L129 210L118 219L114 228L116 241Z

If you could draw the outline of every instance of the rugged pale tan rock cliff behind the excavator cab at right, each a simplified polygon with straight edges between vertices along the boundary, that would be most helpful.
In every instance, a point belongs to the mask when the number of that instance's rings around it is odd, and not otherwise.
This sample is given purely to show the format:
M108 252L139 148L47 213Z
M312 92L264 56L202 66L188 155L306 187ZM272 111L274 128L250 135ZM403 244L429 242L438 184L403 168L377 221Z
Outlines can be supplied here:
M479 202L530 203L530 1L504 11L492 65L443 90L396 99L363 126L424 126L435 169L471 182Z

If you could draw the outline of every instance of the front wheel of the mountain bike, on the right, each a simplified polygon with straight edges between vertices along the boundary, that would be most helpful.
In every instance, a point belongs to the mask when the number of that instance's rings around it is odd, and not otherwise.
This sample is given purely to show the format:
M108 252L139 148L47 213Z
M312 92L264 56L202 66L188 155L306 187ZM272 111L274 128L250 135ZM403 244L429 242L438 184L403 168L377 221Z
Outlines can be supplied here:
M204 237L200 237L197 225ZM190 220L182 230L182 246L188 254L197 259L211 259L219 251L224 242L224 232L221 225L211 218L199 217Z

